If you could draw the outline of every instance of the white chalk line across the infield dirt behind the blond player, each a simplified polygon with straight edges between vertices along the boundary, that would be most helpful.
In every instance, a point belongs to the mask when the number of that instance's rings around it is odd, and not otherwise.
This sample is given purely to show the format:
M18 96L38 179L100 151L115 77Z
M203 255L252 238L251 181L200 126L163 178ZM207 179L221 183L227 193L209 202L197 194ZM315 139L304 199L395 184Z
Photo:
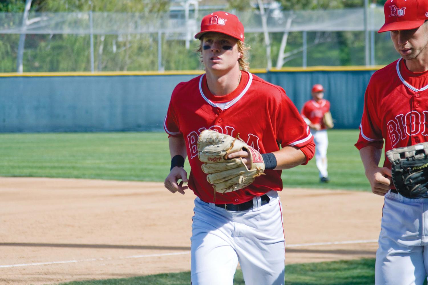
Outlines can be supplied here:
M332 245L332 244L366 244L377 242L377 239L368 239L368 240L357 240L357 241L328 241L328 242L314 242L309 244L288 244L287 247L312 247L316 245ZM146 254L146 255L136 255L136 256L119 256L119 257L106 257L106 258L92 258L92 259L80 259L80 260L64 260L64 261L49 261L49 262L36 262L36 263L23 263L23 264L10 264L10 265L0 265L0 268L9 268L9 267L20 267L20 266L36 266L36 265L48 265L48 264L63 264L63 263L78 263L85 261L101 261L101 260L113 260L113 259L135 259L135 258L145 258L145 257L158 257L158 256L177 256L189 254L189 251L182 251L178 253L157 253L157 254Z

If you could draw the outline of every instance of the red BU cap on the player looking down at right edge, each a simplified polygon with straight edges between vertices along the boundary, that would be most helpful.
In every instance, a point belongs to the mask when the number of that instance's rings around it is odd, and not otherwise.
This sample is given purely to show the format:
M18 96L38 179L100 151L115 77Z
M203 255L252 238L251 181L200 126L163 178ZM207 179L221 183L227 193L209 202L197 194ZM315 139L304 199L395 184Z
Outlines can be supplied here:
M428 20L427 0L386 0L385 24L377 32L416 29Z

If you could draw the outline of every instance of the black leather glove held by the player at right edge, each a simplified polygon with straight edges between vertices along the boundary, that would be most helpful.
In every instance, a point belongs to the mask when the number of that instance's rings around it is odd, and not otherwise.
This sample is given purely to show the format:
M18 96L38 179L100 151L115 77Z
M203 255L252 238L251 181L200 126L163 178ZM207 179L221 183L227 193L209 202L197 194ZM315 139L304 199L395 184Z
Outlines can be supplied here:
M393 148L386 156L398 193L411 199L428 197L428 142Z

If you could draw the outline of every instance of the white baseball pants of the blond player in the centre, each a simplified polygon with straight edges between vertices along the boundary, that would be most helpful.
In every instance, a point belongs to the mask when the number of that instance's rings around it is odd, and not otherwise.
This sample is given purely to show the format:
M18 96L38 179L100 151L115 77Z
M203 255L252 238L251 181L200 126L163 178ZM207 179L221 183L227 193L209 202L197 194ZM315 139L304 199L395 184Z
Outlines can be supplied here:
M233 285L241 265L246 285L283 285L285 239L282 206L276 191L269 203L226 211L196 197L191 237L192 285Z

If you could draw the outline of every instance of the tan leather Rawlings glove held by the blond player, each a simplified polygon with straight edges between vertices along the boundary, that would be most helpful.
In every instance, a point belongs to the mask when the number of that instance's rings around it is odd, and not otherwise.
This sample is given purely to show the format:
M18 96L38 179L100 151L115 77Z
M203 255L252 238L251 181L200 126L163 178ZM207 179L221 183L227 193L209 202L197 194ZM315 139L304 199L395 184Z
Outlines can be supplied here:
M245 150L250 153L250 169L242 158L228 159L230 153ZM216 192L232 192L247 187L263 174L265 163L260 153L239 138L204 130L198 138L198 157L202 171ZM215 192L214 192L215 194Z

